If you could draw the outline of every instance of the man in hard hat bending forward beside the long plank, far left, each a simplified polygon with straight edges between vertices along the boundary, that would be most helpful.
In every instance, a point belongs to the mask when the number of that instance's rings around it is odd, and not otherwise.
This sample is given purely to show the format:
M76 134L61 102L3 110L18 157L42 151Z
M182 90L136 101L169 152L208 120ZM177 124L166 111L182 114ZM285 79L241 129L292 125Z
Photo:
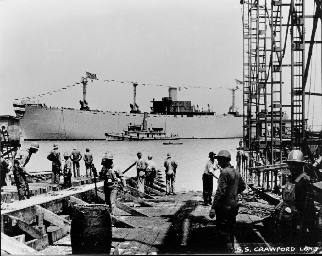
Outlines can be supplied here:
M28 149L18 149L14 154L13 174L18 189L19 201L29 199L29 187L26 175L32 175L26 170L26 164L29 162L32 154L36 153L38 150L39 144L37 142L31 142Z

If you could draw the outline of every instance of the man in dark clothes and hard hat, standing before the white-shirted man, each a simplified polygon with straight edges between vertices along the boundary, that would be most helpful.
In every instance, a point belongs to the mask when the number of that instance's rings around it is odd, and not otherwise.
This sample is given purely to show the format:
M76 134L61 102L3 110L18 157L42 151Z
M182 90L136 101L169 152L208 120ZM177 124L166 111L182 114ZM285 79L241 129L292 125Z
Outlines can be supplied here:
M237 194L245 190L246 184L240 173L230 164L232 158L227 150L219 151L214 158L218 160L222 171L209 217L213 218L216 215L218 234L216 241L218 241L219 248L226 250L229 243L234 248L235 222L239 208ZM227 253L227 251L225 252Z

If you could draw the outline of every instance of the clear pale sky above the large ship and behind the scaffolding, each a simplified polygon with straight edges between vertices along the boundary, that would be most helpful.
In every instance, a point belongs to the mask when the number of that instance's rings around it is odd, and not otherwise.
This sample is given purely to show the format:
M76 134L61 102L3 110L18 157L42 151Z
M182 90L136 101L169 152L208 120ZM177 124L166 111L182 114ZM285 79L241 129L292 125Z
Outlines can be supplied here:
M75 83L86 71L99 79L88 83L91 109L129 112L133 86L125 81L133 81L142 112L168 96L167 87L181 87L178 100L226 113L228 88L243 79L241 7L237 0L0 1L0 113L15 115L12 103L23 97L79 108L82 87ZM320 93L319 70L313 78ZM241 88L235 105L242 112ZM321 97L315 105L309 116L321 109Z

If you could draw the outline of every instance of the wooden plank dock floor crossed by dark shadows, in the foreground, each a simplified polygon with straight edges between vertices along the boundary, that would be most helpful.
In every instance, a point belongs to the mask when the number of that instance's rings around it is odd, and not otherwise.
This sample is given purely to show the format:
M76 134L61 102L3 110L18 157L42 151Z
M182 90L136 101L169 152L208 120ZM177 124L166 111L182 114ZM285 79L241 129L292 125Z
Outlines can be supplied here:
M133 216L116 209L116 216L137 228L113 227L112 246L122 255L147 254L218 254L215 219L209 218L210 206L203 206L202 192L178 192L167 196L174 202L149 202L153 207L140 207L125 202L151 217ZM267 202L251 202L256 206L270 207ZM240 207L240 212L243 207ZM265 239L260 220L254 215L239 214L236 218L235 244L258 244L263 247ZM113 253L113 248L111 250ZM71 254L70 235L47 246L43 254ZM93 252L95 253L95 252Z

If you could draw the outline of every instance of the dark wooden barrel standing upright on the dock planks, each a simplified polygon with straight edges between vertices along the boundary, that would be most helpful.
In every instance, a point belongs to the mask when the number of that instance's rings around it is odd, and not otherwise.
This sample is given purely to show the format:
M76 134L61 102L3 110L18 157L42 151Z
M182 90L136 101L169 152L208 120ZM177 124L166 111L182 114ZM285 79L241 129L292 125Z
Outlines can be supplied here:
M72 254L110 254L112 223L108 205L75 205L71 220Z

